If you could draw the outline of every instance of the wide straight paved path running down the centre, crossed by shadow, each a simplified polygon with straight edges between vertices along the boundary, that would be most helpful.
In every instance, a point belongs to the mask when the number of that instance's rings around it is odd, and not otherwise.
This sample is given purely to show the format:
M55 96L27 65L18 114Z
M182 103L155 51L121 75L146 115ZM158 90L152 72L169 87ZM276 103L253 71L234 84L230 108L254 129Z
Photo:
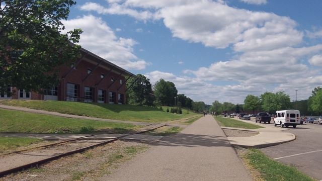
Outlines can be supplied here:
M252 180L212 116L166 137L101 180Z

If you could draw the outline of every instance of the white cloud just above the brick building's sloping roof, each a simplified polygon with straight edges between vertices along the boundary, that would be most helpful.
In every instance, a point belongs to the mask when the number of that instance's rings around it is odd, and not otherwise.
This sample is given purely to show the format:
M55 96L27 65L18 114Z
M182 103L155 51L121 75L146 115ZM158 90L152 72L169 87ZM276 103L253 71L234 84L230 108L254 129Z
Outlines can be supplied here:
M63 21L65 31L81 28L79 44L85 49L126 69L144 69L149 63L133 54L133 39L117 37L101 18L89 15Z

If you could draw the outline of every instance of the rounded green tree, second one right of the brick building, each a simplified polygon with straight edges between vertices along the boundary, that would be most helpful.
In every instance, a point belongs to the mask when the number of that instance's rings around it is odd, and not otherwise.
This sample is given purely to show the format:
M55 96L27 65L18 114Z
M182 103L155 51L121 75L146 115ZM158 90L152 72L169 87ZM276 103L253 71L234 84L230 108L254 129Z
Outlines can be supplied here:
M160 79L154 84L154 96L158 105L173 106L177 94L178 90L171 81Z

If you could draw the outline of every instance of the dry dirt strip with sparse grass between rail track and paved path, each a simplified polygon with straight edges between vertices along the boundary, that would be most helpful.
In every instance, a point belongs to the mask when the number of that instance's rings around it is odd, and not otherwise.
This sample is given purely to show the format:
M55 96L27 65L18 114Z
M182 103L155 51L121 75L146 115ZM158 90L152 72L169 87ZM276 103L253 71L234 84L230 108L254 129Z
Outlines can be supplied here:
M0 180L95 180L147 148L148 145L143 142L119 140L7 175Z

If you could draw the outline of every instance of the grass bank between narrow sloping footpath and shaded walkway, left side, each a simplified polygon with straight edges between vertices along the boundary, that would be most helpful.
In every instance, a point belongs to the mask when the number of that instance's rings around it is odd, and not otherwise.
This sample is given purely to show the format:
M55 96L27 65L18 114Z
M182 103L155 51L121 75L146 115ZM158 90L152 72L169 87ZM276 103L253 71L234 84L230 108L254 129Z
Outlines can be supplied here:
M125 123L72 119L0 109L0 132L9 133L92 133L99 129L120 132L136 126Z

